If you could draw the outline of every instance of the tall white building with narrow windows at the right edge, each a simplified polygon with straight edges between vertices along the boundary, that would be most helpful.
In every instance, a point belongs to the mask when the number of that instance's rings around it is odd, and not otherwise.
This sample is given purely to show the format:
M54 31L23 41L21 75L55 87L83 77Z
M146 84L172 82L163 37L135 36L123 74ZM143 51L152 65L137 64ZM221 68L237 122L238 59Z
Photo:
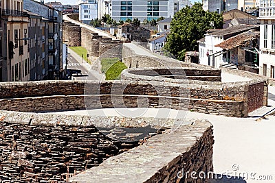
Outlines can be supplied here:
M275 78L275 1L260 1L259 72Z

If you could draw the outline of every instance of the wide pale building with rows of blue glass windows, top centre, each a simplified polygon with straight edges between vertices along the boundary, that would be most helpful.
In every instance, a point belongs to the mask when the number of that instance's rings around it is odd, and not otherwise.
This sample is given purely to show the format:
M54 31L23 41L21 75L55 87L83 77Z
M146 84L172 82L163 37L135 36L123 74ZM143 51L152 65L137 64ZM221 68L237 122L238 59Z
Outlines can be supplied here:
M177 2L174 2L174 0L113 0L111 15L115 21L126 21L126 19L151 21L161 16L168 18L175 14L175 3Z

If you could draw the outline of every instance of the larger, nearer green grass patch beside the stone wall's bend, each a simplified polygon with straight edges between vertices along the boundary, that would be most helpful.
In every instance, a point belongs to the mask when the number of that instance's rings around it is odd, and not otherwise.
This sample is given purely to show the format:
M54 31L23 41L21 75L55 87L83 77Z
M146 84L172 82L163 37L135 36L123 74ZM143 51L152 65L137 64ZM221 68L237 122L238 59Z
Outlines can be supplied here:
M120 80L121 72L127 69L123 62L120 62L119 58L102 58L101 71L105 73L106 80Z

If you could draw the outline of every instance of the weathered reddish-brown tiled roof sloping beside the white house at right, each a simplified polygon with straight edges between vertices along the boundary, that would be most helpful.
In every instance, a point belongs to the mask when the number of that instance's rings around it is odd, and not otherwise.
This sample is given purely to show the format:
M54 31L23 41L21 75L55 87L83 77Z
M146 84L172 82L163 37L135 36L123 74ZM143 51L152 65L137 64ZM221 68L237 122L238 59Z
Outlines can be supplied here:
M260 32L243 32L239 35L233 36L232 38L228 38L227 40L219 43L218 45L215 45L215 47L221 47L222 49L233 49L234 47L239 47L240 45L243 45L244 42L247 42L249 40L254 40L256 38L259 38Z

